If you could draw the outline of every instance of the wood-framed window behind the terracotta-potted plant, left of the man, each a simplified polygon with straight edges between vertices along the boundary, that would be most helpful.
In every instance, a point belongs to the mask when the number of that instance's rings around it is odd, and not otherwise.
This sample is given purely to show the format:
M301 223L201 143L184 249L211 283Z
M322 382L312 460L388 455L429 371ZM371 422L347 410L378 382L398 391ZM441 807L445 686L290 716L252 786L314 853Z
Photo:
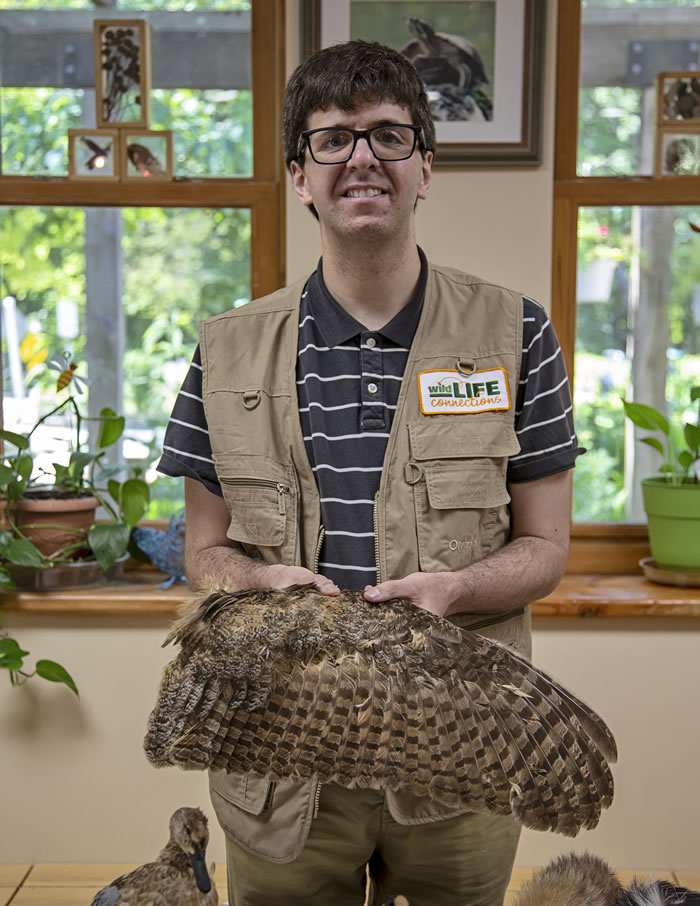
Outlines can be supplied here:
M67 130L96 125L96 18L149 23L170 181L68 178ZM152 466L198 320L283 284L282 18L282 0L0 0L5 427L52 407L45 363L69 351L89 414L124 412L123 457ZM152 496L167 517L181 481Z

